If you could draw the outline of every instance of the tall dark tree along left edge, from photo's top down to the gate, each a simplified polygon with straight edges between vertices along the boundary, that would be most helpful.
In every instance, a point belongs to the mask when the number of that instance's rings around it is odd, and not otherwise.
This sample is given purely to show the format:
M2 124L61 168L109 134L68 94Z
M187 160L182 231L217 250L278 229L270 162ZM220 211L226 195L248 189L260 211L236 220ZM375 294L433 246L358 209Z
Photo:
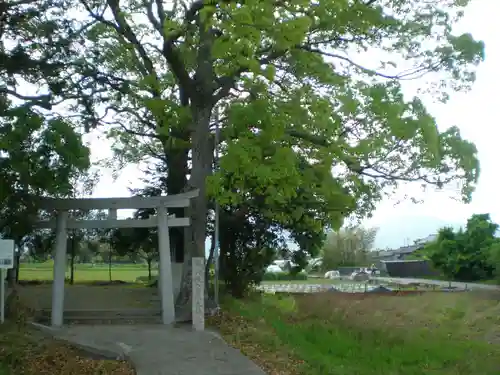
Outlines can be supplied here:
M0 4L0 236L38 255L50 238L33 231L36 198L70 196L90 165L75 124L48 112L66 98L61 61L75 29L55 21L64 9L57 0Z

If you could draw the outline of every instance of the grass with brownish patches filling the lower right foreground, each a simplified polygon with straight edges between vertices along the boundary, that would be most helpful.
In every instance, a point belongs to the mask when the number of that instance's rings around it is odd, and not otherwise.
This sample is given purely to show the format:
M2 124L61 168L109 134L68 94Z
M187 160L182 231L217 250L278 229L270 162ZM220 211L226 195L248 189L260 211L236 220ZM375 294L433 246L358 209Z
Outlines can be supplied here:
M268 374L499 374L498 295L258 295L224 310L212 324Z

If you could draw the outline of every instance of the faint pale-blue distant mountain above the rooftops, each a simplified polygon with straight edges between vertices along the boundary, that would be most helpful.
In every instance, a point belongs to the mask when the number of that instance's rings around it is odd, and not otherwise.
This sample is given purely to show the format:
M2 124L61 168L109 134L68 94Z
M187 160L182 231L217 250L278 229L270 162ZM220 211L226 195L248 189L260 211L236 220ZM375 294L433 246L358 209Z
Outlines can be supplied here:
M378 225L377 249L395 249L411 245L415 240L435 234L443 227L458 229L465 223L449 222L432 216L399 216Z

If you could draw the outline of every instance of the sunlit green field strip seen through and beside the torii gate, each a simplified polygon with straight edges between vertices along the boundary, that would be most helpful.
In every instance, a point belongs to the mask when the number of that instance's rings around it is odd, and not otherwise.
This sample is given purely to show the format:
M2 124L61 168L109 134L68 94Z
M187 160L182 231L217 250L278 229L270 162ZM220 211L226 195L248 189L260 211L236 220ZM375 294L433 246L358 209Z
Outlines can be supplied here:
M52 263L31 263L22 264L19 270L20 280L52 280ZM153 269L153 275L157 270ZM114 265L111 267L112 280L122 280L135 282L138 277L147 277L148 268L144 265ZM70 277L69 267L66 270L66 277ZM109 281L109 270L107 265L77 264L75 266L75 281Z

